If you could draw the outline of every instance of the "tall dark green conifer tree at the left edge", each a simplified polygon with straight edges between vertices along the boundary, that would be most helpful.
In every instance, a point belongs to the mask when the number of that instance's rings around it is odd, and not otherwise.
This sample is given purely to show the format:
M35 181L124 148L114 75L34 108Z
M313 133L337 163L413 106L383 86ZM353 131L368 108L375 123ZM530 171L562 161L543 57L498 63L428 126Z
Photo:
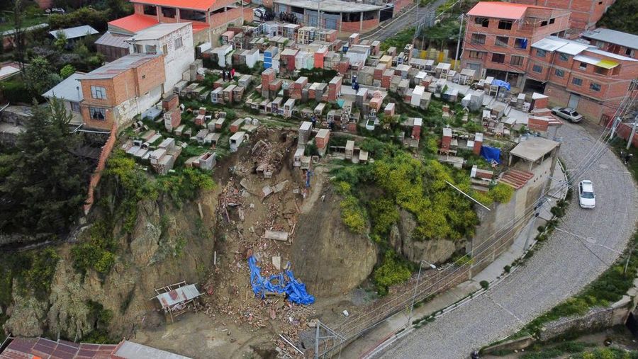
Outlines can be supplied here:
M80 213L88 173L72 154L81 143L69 132L71 115L54 99L51 108L34 105L17 151L0 160L11 162L0 179L0 231L63 233Z

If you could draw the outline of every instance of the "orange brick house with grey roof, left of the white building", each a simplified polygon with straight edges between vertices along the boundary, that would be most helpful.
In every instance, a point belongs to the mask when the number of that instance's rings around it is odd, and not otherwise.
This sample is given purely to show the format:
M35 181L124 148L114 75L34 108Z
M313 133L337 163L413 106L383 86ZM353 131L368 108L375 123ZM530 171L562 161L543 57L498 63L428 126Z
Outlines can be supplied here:
M128 125L164 93L164 55L132 54L79 78L84 127L111 130Z

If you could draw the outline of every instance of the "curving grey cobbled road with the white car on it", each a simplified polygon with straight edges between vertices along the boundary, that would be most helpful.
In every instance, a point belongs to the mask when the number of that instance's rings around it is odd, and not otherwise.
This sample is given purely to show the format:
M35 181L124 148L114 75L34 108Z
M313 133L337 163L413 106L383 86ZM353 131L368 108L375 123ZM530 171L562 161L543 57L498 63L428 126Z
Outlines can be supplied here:
M566 123L559 156L576 166L596 138ZM576 294L625 249L638 219L637 188L617 157L603 156L581 178L596 190L595 210L582 210L574 195L564 223L535 253L486 295L395 343L383 358L467 358L472 350L515 333L532 319Z

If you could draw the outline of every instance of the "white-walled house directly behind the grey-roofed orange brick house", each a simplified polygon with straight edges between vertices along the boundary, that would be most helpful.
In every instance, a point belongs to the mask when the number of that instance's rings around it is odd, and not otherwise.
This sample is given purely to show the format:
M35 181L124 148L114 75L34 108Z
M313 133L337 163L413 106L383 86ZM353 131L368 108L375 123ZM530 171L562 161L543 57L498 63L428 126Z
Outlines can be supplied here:
M182 74L195 61L191 23L161 23L140 31L126 42L131 54L164 55L164 91L170 91L181 81Z

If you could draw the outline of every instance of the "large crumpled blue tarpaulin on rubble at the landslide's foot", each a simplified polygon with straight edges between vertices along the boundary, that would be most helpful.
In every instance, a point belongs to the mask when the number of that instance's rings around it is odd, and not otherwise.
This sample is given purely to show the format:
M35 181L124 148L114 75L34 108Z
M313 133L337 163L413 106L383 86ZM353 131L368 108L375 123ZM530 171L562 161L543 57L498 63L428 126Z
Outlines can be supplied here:
M306 292L306 285L295 279L292 270L284 270L284 273L264 278L253 256L248 258L248 266L252 291L257 297L264 299L266 292L286 293L288 300L293 303L313 304L315 302L315 297Z

